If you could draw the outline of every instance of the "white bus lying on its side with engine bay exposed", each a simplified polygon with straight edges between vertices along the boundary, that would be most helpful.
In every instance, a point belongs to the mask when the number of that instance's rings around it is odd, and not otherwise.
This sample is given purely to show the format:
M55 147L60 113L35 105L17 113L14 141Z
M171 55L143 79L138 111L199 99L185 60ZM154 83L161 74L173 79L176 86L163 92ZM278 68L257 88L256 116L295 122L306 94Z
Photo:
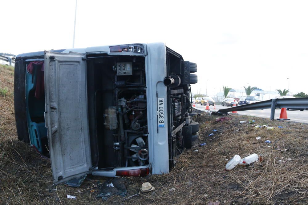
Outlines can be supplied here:
M50 157L55 184L168 173L198 136L196 71L164 43L20 54L18 139Z

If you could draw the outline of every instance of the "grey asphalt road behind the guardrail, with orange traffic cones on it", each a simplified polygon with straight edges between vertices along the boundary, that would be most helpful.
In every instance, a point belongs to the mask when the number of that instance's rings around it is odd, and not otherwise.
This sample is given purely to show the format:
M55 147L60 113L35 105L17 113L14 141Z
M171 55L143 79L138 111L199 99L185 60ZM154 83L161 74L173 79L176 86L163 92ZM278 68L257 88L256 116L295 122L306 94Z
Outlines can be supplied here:
M205 105L195 104L196 108L205 110ZM216 105L216 110L214 110L214 106L209 106L210 111L218 111L219 109L230 108L222 105ZM275 110L275 119L279 118L281 109ZM270 118L270 109L264 110L248 110L248 111L238 111L240 115L250 115L256 117L264 117ZM308 110L300 111L300 110L287 110L287 116L291 121L308 123Z

